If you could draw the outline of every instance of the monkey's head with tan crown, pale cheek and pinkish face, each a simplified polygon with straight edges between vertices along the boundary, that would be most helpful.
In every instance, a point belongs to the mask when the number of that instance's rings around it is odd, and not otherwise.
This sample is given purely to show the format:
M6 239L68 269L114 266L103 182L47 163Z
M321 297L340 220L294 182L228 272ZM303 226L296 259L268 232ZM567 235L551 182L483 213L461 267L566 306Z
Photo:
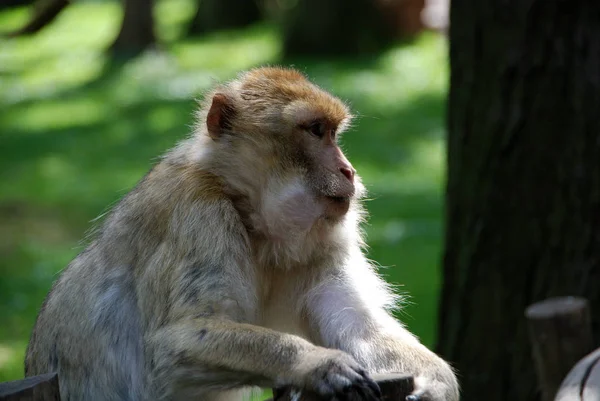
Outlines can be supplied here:
M259 68L207 97L200 131L213 171L248 200L253 224L277 235L338 223L361 196L338 144L350 119L299 72Z

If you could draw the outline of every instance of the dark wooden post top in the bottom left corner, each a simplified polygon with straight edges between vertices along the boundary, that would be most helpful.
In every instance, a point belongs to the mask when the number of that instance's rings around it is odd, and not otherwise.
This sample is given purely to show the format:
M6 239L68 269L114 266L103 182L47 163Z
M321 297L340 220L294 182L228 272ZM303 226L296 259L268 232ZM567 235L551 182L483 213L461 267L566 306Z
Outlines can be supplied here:
M58 375L47 373L0 383L0 401L60 401Z

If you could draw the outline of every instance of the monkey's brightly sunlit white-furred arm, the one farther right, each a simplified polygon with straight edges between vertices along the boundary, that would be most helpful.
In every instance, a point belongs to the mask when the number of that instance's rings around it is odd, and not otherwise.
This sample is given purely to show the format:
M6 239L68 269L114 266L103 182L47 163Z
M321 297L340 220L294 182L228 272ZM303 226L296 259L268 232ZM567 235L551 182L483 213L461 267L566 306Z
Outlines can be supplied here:
M424 399L458 400L450 366L388 312L394 296L362 253L356 250L350 260L307 298L318 343L348 352L372 373L414 375L416 394Z

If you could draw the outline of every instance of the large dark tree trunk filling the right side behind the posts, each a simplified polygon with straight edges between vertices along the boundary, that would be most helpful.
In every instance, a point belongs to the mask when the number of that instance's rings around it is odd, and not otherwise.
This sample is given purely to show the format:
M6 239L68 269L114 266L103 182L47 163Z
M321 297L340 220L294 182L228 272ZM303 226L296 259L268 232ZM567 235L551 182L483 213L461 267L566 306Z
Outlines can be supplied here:
M451 2L438 351L463 400L539 399L524 309L590 300L600 334L600 3Z

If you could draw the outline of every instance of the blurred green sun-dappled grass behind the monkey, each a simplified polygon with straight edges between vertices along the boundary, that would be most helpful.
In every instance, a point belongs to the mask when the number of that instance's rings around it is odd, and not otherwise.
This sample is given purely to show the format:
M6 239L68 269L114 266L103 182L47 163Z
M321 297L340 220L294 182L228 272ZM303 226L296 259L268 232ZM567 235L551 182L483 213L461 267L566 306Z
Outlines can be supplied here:
M157 6L163 53L121 67L103 49L116 2L80 2L31 38L0 42L0 381L23 354L56 274L107 210L192 124L194 98L215 80L276 64L271 26L178 40L193 1ZM0 12L19 26L25 9ZM344 136L370 190L370 258L410 294L401 318L432 345L439 287L446 44L425 35L378 57L293 64L359 115Z

